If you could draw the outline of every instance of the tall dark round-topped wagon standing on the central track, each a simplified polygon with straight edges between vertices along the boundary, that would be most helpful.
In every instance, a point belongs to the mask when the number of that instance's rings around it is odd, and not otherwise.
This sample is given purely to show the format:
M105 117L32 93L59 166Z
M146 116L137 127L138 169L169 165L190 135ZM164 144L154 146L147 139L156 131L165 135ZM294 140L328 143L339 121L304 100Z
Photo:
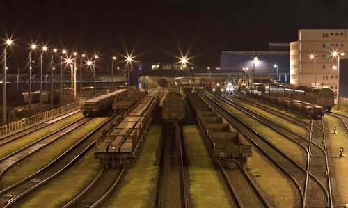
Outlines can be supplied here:
M180 123L185 118L185 100L180 94L180 88L171 84L168 93L163 99L162 119L167 123Z

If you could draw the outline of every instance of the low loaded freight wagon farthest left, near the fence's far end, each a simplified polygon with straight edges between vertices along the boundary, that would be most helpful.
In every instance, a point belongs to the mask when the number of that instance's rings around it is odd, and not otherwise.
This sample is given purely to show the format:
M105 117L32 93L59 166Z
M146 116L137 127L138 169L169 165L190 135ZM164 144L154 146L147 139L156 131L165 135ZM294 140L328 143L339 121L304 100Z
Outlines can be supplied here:
M121 89L106 95L94 97L93 99L88 99L81 105L81 111L84 115L99 115L112 106L114 99L122 100L126 94L127 90Z

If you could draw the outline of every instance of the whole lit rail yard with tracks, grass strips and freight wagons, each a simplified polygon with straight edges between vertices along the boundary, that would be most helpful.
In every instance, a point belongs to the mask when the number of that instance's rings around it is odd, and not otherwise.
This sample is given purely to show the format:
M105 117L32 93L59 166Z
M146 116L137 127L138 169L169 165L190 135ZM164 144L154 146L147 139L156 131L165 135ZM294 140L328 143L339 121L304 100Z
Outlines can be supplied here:
M328 88L160 79L0 136L1 207L342 207Z

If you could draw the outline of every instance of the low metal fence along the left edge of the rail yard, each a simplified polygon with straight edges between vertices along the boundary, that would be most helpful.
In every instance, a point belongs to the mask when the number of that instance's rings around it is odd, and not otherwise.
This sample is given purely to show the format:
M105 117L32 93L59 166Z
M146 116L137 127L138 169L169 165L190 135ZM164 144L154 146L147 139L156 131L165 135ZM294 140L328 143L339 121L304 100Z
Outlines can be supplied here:
M51 111L46 111L44 113L33 115L29 118L23 118L22 120L10 122L8 125L4 125L4 126L0 127L0 135L7 134L7 133L9 133L11 131L15 131L17 129L21 129L21 128L26 127L28 125L31 125L35 122L39 122L40 120L44 120L46 118L50 118L52 116L59 115L61 113L64 113L65 111L69 111L71 109L76 108L77 106L79 106L79 104L80 104L80 102L74 102L72 104L62 106L58 109L53 109Z

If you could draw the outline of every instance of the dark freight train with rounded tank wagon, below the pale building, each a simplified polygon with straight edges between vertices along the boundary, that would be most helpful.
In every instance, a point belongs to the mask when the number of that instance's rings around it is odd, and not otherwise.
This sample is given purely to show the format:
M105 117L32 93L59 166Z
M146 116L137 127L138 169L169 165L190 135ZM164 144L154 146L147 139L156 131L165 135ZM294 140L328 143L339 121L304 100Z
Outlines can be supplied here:
M333 90L329 88L271 83L269 93L262 93L258 90L245 90L244 92L252 97L309 115L312 118L322 118L325 111L331 111L334 106Z

